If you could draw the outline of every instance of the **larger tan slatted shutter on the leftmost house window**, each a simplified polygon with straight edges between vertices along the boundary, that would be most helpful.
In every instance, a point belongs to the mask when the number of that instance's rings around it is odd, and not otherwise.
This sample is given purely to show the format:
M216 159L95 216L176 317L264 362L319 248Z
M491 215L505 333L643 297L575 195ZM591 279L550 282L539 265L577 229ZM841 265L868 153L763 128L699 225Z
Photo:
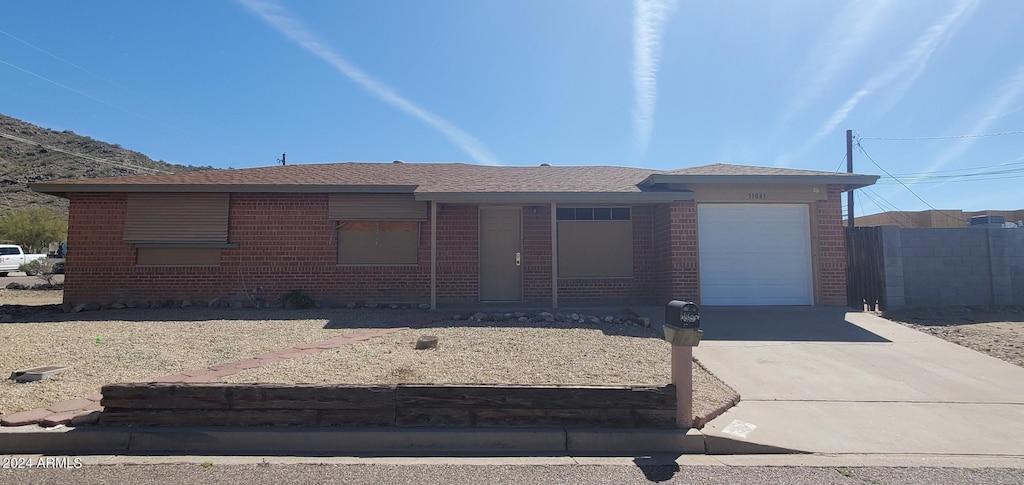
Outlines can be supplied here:
M124 240L227 241L227 193L129 193Z

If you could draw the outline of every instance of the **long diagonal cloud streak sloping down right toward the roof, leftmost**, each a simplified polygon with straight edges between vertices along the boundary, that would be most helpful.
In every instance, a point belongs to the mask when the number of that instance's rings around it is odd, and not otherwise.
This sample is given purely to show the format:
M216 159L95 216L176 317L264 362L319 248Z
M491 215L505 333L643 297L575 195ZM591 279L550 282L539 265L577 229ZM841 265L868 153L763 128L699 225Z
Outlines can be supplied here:
M257 14L264 21L284 34L302 48L328 62L339 73L353 83L384 102L391 104L406 114L418 118L444 135L452 143L462 148L474 161L484 165L502 165L501 161L479 140L462 131L441 117L420 107L406 99L386 84L374 79L367 73L342 58L334 50L324 44L315 35L306 29L283 6L264 0L238 0L243 6Z

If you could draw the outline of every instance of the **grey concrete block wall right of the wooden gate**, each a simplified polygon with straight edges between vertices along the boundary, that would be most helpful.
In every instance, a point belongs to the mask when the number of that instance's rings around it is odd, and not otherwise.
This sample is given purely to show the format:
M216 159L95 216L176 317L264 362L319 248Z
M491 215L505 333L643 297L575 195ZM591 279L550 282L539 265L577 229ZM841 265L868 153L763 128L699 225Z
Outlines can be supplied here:
M1024 230L882 229L889 309L1024 305Z

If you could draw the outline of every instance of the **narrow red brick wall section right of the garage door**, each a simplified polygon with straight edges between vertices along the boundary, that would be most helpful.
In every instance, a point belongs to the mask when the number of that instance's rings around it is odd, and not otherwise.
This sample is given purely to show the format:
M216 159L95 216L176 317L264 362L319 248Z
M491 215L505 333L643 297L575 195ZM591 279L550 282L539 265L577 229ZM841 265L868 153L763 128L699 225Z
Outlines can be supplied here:
M814 204L817 211L818 305L845 306L846 302L846 229L840 187L828 186L828 197Z

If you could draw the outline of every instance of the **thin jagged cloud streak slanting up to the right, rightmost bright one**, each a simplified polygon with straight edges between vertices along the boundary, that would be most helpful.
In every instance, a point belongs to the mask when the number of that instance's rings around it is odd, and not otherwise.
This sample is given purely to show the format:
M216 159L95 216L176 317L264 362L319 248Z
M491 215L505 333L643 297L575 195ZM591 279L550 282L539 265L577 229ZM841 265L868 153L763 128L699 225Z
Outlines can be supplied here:
M838 109L833 112L831 116L821 125L814 136L807 140L795 153L780 157L776 161L776 164L784 163L784 161L807 151L807 149L820 141L821 138L833 133L840 124L845 122L850 117L850 113L864 98L890 86L893 82L898 82L894 95L891 97L891 102L895 103L925 71L935 50L942 45L942 42L946 40L955 27L971 16L977 5L977 0L957 1L948 13L939 18L937 23L926 29L918 37L913 45L907 51L903 52L898 61L870 78L863 87L854 92Z

